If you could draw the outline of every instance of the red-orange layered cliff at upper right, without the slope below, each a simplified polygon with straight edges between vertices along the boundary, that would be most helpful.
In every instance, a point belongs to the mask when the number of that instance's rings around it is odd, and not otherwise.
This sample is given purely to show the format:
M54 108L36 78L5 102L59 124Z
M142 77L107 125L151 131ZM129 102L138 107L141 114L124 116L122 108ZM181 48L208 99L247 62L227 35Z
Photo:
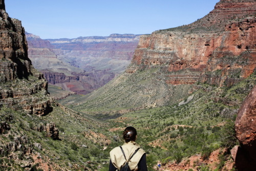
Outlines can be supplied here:
M161 67L168 84L230 86L256 67L255 1L220 1L197 22L143 35L132 66Z

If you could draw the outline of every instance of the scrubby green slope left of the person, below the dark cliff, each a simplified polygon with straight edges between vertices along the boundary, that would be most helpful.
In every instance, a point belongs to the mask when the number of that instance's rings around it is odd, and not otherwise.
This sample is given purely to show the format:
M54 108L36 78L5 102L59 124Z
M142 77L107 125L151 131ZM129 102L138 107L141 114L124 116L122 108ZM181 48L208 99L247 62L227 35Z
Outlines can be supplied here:
M104 129L105 123L55 104L53 109L49 115L42 117L4 106L0 109L1 121L7 121L11 127L0 136L0 148L5 150L0 157L1 170L23 170L27 162L34 164L34 170L96 170L98 165L109 160L108 152L101 150L110 139L110 134ZM46 137L45 132L34 130L34 127L50 122L56 123L60 130L60 140L53 140ZM26 136L28 143L22 143L22 149L16 152L7 153L5 145L20 136ZM42 150L34 143L41 144ZM33 149L32 154L23 153L23 150L30 148ZM10 156L14 160L10 160Z

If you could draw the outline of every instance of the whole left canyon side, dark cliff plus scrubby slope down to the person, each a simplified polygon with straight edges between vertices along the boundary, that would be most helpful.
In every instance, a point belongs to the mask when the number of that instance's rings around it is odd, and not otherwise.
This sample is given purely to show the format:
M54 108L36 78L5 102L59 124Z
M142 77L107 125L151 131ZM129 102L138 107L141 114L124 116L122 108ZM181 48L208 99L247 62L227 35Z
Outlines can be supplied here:
M108 125L55 103L28 58L24 28L0 0L0 170L96 170ZM48 46L47 44L45 44Z

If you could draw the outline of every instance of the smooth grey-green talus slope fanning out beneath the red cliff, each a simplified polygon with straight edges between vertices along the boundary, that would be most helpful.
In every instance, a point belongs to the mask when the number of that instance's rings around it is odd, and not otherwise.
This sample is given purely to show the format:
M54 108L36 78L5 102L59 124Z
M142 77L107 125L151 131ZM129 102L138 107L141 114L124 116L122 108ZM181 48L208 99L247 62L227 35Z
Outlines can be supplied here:
M175 103L191 89L190 85L168 85L164 79L159 69L123 73L89 95L71 96L60 103L81 112L118 114Z

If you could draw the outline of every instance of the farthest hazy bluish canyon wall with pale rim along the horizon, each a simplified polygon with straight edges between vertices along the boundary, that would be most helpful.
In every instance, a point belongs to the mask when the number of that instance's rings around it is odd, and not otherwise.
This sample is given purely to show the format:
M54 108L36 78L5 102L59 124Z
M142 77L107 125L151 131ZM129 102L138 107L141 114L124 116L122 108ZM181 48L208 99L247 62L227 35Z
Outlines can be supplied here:
M111 34L110 36L48 39L59 59L85 71L110 70L122 73L130 64L139 35Z

